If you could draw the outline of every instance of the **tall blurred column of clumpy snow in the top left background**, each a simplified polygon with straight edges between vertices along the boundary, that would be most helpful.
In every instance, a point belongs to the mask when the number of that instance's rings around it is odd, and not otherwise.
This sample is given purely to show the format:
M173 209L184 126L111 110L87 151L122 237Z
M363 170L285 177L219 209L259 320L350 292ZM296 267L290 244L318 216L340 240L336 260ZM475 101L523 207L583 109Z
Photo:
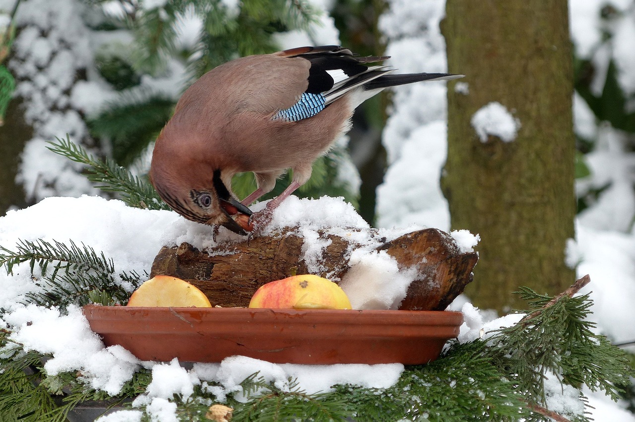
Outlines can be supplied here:
M8 65L17 76L16 92L25 99L25 120L34 128L33 138L22 153L17 181L36 200L92 191L68 160L44 148L44 141L55 136L69 133L79 140L88 133L77 112L66 109L76 71L91 61L83 10L75 0L27 0L20 4L16 16L23 30L18 33L15 56ZM60 186L56 186L58 181Z

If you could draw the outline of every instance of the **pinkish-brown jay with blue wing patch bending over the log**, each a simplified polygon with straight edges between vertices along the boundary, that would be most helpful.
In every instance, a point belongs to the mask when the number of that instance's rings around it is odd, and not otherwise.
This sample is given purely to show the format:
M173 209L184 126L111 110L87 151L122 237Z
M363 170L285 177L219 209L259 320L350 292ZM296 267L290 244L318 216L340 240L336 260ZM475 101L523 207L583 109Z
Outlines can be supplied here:
M463 75L398 74L387 59L339 46L300 47L237 58L204 74L157 137L150 181L186 219L255 233L311 176L314 160L351 128L355 108L382 89ZM252 215L253 201L293 170L288 188ZM239 201L231 180L253 172L257 189ZM252 232L253 233L253 232Z

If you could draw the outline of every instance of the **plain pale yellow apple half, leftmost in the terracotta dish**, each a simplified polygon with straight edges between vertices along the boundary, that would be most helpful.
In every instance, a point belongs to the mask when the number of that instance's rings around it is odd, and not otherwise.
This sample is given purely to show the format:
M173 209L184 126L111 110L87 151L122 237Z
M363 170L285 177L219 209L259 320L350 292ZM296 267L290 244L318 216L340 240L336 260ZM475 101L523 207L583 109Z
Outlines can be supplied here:
M156 276L132 293L128 306L211 308L210 300L196 286L170 276Z

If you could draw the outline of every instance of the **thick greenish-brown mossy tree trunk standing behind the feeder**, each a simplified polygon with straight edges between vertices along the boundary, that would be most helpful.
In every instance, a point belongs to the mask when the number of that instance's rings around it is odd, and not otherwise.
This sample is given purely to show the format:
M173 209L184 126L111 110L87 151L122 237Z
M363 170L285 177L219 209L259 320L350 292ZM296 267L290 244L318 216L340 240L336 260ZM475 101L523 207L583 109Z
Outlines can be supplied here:
M453 229L479 233L479 264L466 293L479 307L524 307L512 291L551 294L575 278L565 265L575 194L572 46L567 2L448 0L442 23L450 72L443 189ZM498 101L518 118L512 142L483 143L471 125Z

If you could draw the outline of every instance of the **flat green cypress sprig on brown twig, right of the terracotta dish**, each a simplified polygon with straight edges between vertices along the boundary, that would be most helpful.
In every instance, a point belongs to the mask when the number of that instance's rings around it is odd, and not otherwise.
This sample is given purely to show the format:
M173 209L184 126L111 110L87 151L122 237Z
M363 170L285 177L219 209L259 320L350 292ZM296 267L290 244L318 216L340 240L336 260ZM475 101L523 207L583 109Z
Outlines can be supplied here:
M551 297L529 288L521 288L519 294L540 312L500 330L492 342L498 364L512 368L519 390L531 397L542 395L544 404L545 374L551 373L566 385L581 388L584 384L617 400L622 391L617 386L629 383L628 359L605 336L592 331L595 324L587 320L589 295L564 295L552 302Z

